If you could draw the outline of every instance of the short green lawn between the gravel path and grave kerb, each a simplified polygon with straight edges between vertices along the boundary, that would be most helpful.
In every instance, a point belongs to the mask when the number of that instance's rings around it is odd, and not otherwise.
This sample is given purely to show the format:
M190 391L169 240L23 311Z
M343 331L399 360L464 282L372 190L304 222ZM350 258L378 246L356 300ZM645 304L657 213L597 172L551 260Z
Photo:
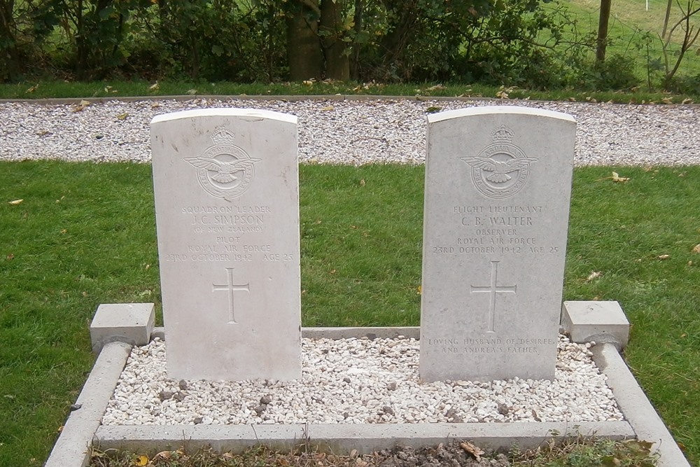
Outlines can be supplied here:
M0 163L0 466L45 461L97 305L160 305L152 190L150 165ZM418 325L423 167L304 165L300 200L304 326ZM698 200L700 167L575 169L564 284L620 302L626 360L694 465Z

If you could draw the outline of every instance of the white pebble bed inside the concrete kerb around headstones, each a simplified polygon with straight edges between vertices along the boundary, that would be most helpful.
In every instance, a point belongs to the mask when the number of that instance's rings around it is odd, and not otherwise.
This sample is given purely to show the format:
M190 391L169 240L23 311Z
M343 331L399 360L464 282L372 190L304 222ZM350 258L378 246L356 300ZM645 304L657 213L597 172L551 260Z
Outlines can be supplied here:
M134 347L104 425L622 420L590 344L559 337L554 381L421 383L419 342L302 339L292 382L176 381L165 342Z

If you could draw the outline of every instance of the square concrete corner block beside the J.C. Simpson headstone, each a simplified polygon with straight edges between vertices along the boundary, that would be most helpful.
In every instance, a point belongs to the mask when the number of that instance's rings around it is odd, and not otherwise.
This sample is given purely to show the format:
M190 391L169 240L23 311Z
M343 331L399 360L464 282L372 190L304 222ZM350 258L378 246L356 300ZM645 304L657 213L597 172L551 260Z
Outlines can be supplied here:
M154 323L153 303L103 303L90 324L92 350L99 352L108 342L146 345Z

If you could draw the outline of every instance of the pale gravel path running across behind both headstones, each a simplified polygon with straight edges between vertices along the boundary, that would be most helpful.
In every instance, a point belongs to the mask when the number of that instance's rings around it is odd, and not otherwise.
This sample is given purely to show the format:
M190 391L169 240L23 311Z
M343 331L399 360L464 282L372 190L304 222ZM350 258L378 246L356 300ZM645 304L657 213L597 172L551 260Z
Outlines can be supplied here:
M698 106L521 100L190 99L76 104L0 103L0 160L148 162L153 116L205 107L291 113L301 162L363 165L425 160L426 111L468 106L533 106L578 122L575 165L700 165ZM526 137L527 135L518 135Z

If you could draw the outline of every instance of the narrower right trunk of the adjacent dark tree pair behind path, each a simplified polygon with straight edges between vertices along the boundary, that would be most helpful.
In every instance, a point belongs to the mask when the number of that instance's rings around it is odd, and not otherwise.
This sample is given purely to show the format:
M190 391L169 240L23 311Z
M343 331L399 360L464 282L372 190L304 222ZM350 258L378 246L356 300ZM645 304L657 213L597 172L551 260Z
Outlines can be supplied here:
M325 56L325 77L337 81L350 79L350 56L344 39L341 0L321 1L318 34Z

